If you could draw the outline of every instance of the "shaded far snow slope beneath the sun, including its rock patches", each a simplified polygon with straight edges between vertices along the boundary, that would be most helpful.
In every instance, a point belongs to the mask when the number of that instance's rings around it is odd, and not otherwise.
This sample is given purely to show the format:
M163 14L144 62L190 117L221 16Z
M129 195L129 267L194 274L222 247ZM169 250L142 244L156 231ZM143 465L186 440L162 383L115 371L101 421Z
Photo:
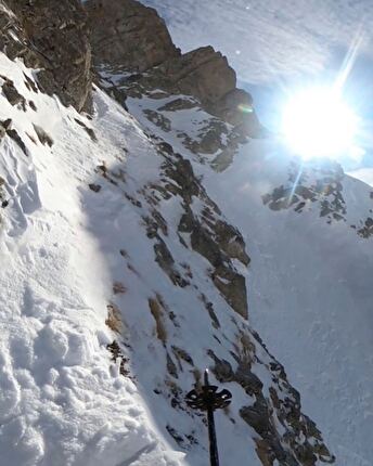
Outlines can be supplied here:
M252 257L250 323L284 362L336 464L370 465L370 186L332 163L301 165L280 141L239 145L232 163L229 126L221 146L202 156L216 121L198 107L169 111L175 100L145 92L127 104L151 133L192 161L207 192L244 233Z

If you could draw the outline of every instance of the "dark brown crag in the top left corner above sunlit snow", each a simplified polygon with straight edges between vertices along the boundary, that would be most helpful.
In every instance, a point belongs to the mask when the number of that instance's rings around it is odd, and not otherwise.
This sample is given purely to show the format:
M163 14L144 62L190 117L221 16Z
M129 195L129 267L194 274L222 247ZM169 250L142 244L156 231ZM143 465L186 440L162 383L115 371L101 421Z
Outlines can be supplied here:
M0 50L40 68L38 82L64 105L90 108L91 48L78 0L7 0L0 3Z

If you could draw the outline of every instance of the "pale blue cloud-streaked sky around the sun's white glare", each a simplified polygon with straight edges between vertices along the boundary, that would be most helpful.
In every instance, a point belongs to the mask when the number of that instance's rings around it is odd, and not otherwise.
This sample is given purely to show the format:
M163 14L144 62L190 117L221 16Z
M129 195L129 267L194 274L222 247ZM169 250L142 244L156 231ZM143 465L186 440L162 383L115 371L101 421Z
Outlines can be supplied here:
M292 89L332 82L353 43L357 56L345 98L362 119L366 152L346 169L373 167L373 1L143 0L166 20L183 51L211 44L229 59L273 129Z

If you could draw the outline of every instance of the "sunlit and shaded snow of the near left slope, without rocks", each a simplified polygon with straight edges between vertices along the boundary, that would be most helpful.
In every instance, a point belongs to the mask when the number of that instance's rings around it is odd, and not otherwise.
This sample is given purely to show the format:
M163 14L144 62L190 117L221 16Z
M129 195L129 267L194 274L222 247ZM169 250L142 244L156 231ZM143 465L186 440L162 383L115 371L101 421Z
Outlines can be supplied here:
M37 108L27 104L24 112L0 95L0 119L12 118L28 154L8 135L1 141L0 176L9 200L0 233L1 464L205 466L207 429L183 401L195 383L193 366L177 362L178 387L167 374L169 354L159 334L186 347L194 366L204 368L210 348L234 363L230 350L248 327L227 311L208 277L209 263L177 237L181 198L163 200L162 215L171 226L168 246L176 264L189 264L194 283L214 302L220 332L206 333L211 321L198 287L176 287L154 261L145 228L151 204L140 193L159 182L164 157L134 118L102 91L94 92L90 120L28 89L25 76L33 80L35 73L21 62L0 54L0 75ZM34 124L53 139L51 148L38 141ZM94 130L97 142L82 124ZM202 206L192 207L197 215ZM162 305L160 322L149 310L150 299ZM108 306L119 310L120 335L105 325ZM125 359L113 362L106 346L118 339ZM253 373L269 397L273 360L259 342L253 345ZM230 385L234 401L216 419L220 438L230 439L221 442L221 461L260 466L255 432L239 414L252 397ZM167 427L181 432L186 453Z

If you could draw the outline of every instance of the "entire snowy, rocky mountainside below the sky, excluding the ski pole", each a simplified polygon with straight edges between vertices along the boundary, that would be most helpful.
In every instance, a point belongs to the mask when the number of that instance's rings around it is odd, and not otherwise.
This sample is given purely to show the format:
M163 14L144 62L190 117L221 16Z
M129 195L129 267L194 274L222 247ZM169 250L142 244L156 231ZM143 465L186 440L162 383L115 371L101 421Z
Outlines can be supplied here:
M134 0L0 1L0 457L368 466L372 193Z

